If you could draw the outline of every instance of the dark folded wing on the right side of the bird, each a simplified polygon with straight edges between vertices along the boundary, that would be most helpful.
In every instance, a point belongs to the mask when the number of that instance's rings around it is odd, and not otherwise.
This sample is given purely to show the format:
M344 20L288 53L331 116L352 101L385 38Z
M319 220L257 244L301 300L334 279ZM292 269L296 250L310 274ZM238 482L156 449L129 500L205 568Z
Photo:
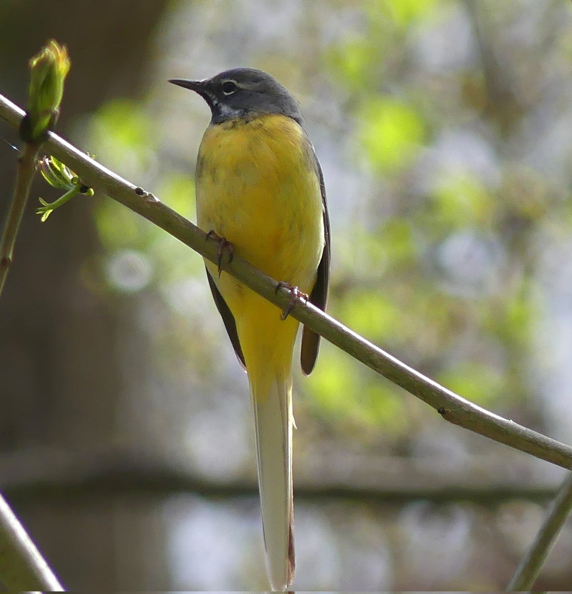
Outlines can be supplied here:
M322 168L314 147L312 148L312 156L316 173L320 180L320 192L322 193L322 207L323 207L323 233L324 233L324 247L322 252L322 260L318 265L318 271L316 271L316 283L310 293L310 301L316 306L325 311L326 301L328 301L328 282L329 282L329 260L330 260L330 230L329 230L329 216L328 216L328 205L326 204L326 186L323 181ZM221 298L222 299L222 298ZM220 310L219 310L220 311ZM302 331L302 345L300 352L300 363L302 365L302 371L309 375L316 365L316 358L318 358L318 349L320 347L320 335L316 334L315 331L306 328Z

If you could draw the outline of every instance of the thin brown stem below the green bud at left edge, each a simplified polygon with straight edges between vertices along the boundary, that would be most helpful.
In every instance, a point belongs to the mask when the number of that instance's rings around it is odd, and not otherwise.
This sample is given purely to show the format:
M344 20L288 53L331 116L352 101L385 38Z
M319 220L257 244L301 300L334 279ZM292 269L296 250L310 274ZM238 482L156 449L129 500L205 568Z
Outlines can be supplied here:
M23 153L18 157L16 185L10 207L8 208L2 237L0 238L0 296L2 295L2 289L4 289L8 271L14 259L14 244L24 210L26 210L32 179L36 172L38 149L39 146L37 144L26 143Z

